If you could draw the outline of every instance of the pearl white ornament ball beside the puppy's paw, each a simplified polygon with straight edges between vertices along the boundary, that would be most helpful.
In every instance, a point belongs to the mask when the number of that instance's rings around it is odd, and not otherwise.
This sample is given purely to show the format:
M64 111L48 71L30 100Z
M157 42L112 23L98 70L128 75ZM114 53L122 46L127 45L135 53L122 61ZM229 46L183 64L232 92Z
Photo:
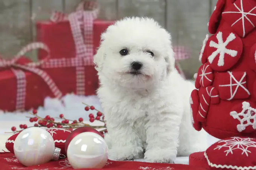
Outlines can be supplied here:
M108 160L108 146L100 135L82 132L70 141L67 158L74 169L102 168Z

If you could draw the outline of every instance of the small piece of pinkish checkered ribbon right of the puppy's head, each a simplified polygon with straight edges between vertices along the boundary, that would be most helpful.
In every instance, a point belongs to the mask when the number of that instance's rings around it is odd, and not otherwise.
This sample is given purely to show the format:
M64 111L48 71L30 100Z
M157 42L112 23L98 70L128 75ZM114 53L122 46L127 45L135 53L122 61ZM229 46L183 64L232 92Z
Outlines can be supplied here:
M176 61L189 59L191 57L189 50L184 46L174 46L173 51L174 51L174 58ZM179 63L176 62L175 68L178 70L178 72L180 72L182 77L185 78L184 72L182 71Z

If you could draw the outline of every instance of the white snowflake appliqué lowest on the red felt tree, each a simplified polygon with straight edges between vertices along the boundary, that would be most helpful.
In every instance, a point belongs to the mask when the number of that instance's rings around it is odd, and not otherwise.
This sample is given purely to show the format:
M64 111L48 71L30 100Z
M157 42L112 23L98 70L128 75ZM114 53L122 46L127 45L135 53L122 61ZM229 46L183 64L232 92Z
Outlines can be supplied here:
M253 126L253 129L256 129L256 109L250 107L250 103L242 102L242 111L240 113L232 111L230 112L230 116L239 120L240 124L236 126L239 132L245 130L249 125ZM253 123L251 120L253 120Z

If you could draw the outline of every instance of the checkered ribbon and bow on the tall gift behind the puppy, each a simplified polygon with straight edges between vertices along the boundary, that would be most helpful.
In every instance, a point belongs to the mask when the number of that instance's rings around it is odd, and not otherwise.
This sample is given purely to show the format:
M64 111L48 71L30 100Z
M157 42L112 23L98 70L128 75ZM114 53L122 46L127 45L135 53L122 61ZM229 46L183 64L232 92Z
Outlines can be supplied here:
M69 21L76 47L76 57L71 59L50 59L43 64L44 68L76 67L76 93L85 95L85 68L93 64L93 20L99 13L95 1L79 3L76 11L66 15L53 12L50 20L53 22Z

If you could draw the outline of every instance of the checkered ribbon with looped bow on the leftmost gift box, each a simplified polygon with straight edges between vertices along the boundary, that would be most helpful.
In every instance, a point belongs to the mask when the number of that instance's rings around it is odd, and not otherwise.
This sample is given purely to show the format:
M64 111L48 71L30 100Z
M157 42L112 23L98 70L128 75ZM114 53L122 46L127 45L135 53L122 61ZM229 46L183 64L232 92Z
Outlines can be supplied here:
M47 51L48 56L41 60L40 62L34 63L26 63L21 65L18 63L18 59L26 54L29 51L36 50L36 49L43 49ZM56 84L53 82L52 78L41 69L36 68L36 66L42 65L49 59L49 48L41 43L41 42L34 42L28 44L26 47L22 48L20 52L11 60L0 60L0 68L8 68L10 67L12 72L14 73L15 77L17 78L17 96L16 96L16 110L24 110L25 108L25 101L26 101L26 74L22 71L29 71L34 74L40 76L44 82L49 86L52 93L55 95L56 98L60 99L62 97L61 91L58 89ZM18 69L17 69L18 68Z

